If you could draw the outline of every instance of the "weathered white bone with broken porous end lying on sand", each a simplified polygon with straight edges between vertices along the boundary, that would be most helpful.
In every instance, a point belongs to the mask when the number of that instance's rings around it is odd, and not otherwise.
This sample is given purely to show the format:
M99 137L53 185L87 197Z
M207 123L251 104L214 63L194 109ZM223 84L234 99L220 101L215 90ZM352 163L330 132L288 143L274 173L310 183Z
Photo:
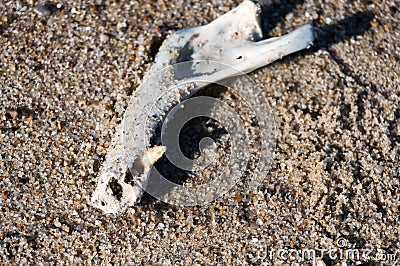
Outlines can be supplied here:
M180 30L164 41L117 128L90 199L93 206L105 213L118 213L140 199L152 164L165 151L162 146L149 147L159 119L201 87L188 81L206 77L212 83L248 73L312 44L311 25L282 37L261 40L259 13L256 4L244 1L211 23ZM171 65L193 60L205 61L168 71ZM159 97L177 83L188 85L160 101Z

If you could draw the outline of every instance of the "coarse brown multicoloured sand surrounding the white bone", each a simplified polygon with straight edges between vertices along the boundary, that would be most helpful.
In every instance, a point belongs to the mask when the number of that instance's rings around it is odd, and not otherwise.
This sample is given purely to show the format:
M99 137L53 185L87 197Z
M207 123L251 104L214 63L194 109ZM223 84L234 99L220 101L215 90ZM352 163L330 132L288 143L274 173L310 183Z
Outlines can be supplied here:
M249 75L276 121L259 187L196 207L88 205L163 39L239 3L0 1L0 264L400 262L398 1L260 1L265 37L312 23L317 39Z

